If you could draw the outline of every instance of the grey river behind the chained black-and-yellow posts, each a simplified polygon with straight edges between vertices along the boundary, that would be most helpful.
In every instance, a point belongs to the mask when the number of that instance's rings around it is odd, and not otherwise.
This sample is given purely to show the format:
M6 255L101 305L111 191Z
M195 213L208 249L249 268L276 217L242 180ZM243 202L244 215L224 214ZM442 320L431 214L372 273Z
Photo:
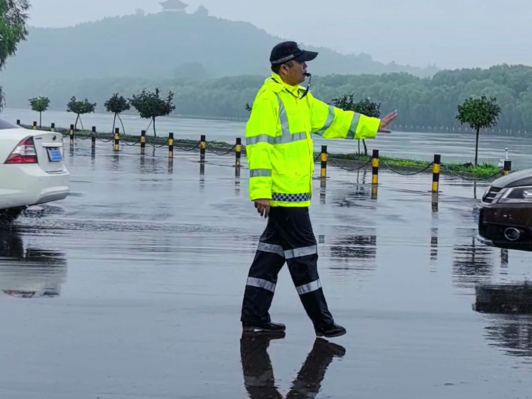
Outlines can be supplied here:
M58 127L69 127L76 116L68 112L48 111L43 114L43 124L49 126L55 122ZM38 119L38 113L31 110L6 109L2 117L24 124L32 124ZM400 116L397 123L400 123ZM146 130L149 121L140 119L138 115L123 115L124 128L127 134L140 135ZM111 131L113 117L111 114L88 114L82 117L86 129L96 126L98 131ZM202 119L157 118L156 127L159 135L167 136L173 132L176 138L198 139L205 135L207 140L221 140L235 143L236 137L245 137L245 122L217 121ZM153 130L148 130L148 135ZM358 151L358 142L347 140L323 140L314 136L314 149L320 151L321 145L328 145L329 152L352 153ZM369 151L379 149L381 155L404 157L409 159L434 159L434 154L442 155L442 162L473 162L475 159L475 134L472 132L393 132L379 134L376 140L367 140ZM481 135L479 162L498 163L508 148L513 169L532 167L532 137L497 137Z

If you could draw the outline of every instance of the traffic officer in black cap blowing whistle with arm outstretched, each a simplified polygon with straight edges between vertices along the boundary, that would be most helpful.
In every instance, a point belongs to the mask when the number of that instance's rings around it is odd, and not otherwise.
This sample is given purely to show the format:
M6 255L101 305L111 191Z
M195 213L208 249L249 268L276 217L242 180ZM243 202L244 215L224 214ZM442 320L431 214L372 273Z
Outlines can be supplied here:
M246 156L250 197L268 218L248 273L242 304L244 332L284 331L269 309L277 275L285 264L317 336L345 334L327 307L318 275L318 248L309 217L314 156L311 134L323 138L367 139L389 132L397 113L382 120L340 110L314 98L299 86L306 62L318 53L293 41L271 52L272 74L259 89L246 124ZM309 82L310 86L310 82Z

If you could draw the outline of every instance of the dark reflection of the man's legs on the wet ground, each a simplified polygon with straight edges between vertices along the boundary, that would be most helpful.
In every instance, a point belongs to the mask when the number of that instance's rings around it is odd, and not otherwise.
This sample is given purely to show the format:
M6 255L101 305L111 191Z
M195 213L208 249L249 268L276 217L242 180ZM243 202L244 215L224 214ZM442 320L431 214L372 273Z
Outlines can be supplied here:
M240 339L240 356L244 373L244 385L251 399L281 399L275 386L273 368L267 349L271 336L253 336ZM325 372L334 356L345 355L343 346L317 338L300 372L286 395L287 399L315 397L325 378Z

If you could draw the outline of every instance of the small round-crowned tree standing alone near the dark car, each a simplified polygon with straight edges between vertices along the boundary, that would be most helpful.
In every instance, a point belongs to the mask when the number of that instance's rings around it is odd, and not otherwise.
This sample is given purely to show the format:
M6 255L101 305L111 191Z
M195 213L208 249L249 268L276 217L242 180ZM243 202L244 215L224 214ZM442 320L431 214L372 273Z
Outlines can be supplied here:
M462 124L469 124L471 129L476 132L475 166L478 165L478 138L480 136L480 129L496 126L500 113L501 107L498 106L495 97L469 97L458 106L456 119Z

